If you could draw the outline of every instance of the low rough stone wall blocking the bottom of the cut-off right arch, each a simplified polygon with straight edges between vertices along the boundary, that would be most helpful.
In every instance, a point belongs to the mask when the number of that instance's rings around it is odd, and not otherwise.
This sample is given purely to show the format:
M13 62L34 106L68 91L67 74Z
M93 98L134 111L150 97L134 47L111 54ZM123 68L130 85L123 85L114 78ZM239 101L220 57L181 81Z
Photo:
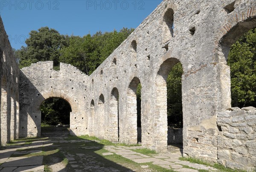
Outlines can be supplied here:
M218 113L218 163L232 169L256 169L256 108Z

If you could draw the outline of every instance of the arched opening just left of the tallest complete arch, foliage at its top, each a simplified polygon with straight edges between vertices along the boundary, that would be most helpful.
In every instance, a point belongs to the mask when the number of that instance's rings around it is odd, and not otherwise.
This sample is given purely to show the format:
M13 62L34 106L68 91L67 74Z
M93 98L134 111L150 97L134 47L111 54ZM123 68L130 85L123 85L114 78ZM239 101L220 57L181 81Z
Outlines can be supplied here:
M128 87L128 118L131 123L131 136L134 135L136 143L141 143L141 98L140 98L140 79L134 77Z

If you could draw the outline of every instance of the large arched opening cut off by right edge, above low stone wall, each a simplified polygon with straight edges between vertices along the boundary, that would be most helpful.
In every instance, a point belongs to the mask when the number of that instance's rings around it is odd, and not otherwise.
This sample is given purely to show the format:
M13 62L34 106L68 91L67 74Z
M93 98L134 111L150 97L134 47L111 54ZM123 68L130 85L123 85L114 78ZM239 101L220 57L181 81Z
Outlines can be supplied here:
M220 39L221 52L219 53L219 60L221 62L221 110L226 110L227 107L231 106L256 106L255 104L248 104L243 99L253 98L253 86L248 81L248 78L253 78L253 61L255 61L255 53L248 51L250 46L247 45L246 37L243 36L250 29L255 28L256 26L256 17L249 17L241 23L234 25L227 34L225 34ZM254 29L255 31L255 29ZM253 37L249 38L252 39ZM240 39L240 40L239 40ZM237 42L238 41L238 42ZM253 43L255 44L255 43ZM230 48L233 45L234 52L230 51ZM253 45L255 47L255 45ZM246 51L246 53L241 53L240 51ZM233 56L230 58L230 56ZM249 68L244 68L244 64L248 64ZM230 75L231 70L231 75ZM246 73L244 73L246 71ZM251 70L251 71L249 71ZM239 74L240 73L240 74ZM254 72L255 73L255 72ZM247 76L246 76L247 75ZM241 80L242 79L242 80ZM232 80L232 81L230 81ZM246 82L246 84L244 84ZM226 84L227 83L227 84ZM249 86L250 85L250 86ZM244 87L245 86L245 87ZM252 89L252 90L251 90ZM231 93L232 92L232 93ZM232 94L232 95L231 95ZM246 98L246 99L247 99ZM236 100L234 100L236 99ZM240 100L239 100L240 99ZM240 102L240 103L239 103ZM244 103L242 103L244 102ZM224 104L225 106L223 106Z

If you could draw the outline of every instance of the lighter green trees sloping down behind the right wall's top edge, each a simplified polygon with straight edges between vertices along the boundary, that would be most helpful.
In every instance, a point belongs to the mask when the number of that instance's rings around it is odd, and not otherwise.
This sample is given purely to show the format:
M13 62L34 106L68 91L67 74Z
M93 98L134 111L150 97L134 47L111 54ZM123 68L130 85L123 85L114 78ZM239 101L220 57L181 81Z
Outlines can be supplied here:
M71 36L68 46L61 49L60 61L71 64L90 75L134 31L123 28L119 32L97 32L93 36Z

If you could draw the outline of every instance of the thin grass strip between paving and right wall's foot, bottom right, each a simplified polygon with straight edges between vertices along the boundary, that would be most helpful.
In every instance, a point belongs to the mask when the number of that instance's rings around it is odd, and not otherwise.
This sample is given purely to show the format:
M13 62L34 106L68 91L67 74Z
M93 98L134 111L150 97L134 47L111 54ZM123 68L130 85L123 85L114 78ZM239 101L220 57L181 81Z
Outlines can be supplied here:
M215 169L220 170L221 172L246 172L246 170L230 169L230 168L227 168L227 167L225 167L221 164L217 164L217 163L211 164L211 163L203 161L201 159L192 158L192 157L188 157L188 158L180 157L179 159L182 160L182 161L189 161L189 162L196 163L196 164L211 166ZM201 170L200 172L207 172L207 170L206 171Z

